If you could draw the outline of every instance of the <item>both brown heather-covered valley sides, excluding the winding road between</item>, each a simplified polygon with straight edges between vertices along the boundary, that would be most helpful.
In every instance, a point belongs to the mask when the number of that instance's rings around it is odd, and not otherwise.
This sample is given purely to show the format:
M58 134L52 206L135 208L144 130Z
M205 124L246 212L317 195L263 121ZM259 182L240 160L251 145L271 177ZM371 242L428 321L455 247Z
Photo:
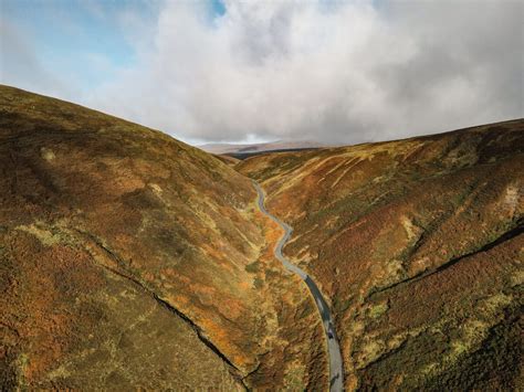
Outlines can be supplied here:
M524 120L214 157L0 86L0 389L524 383Z

